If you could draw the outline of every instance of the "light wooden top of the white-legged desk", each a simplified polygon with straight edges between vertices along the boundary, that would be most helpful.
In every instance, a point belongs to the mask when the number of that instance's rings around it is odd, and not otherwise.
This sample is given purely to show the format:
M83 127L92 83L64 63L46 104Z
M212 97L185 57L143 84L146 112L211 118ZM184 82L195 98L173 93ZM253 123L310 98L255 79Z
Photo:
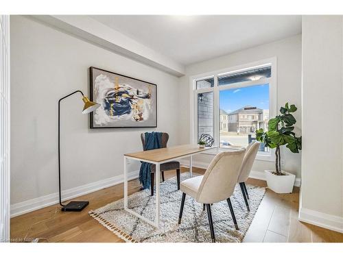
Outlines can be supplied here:
M165 160L171 160L174 158L187 156L189 154L196 154L209 149L215 149L217 147L205 147L200 148L198 145L177 145L175 147L165 147L147 151L137 151L132 154L124 154L124 156L139 158L142 160L152 162L163 162Z

